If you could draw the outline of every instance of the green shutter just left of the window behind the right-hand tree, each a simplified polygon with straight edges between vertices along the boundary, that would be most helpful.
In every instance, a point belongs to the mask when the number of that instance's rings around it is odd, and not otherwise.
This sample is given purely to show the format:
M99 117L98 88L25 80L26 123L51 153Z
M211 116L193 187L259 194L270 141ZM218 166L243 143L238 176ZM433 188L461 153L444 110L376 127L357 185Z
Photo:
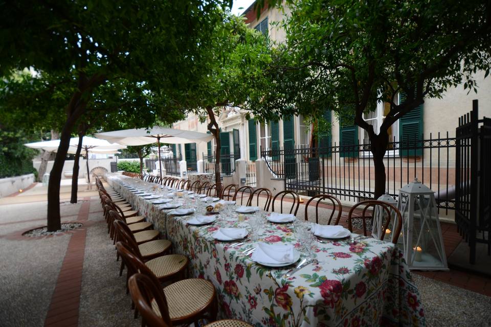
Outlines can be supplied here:
M354 125L354 106L344 106L339 116L339 156L356 158L359 155L358 126Z

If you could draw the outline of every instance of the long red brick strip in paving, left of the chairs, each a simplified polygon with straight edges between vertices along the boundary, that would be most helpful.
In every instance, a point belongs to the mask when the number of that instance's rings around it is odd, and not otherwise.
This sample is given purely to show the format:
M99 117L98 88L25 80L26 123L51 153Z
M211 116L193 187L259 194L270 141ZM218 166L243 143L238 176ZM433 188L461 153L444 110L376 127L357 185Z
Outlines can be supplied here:
M44 326L77 326L80 294L82 292L82 270L85 254L85 240L90 211L90 202L82 203L76 222L83 222L83 226L74 229L65 257L61 265L60 274L56 281L55 290L51 297L51 304L44 320ZM93 223L96 223L94 221Z

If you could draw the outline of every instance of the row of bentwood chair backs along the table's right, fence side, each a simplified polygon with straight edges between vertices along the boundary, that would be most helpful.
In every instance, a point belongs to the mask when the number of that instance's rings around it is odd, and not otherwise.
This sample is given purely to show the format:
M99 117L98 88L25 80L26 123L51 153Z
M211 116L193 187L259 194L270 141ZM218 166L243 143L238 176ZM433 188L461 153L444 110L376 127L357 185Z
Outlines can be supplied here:
M145 179L145 177L143 178ZM150 181L150 179L148 180ZM237 202L237 204L240 205L261 206L264 211L269 211L271 206L271 211L273 212L294 214L295 216L297 215L300 206L300 196L293 191L282 191L273 196L271 190L266 188L254 190L251 186L241 186L239 188L236 184L230 184L225 186L225 188L223 188L221 193L218 195L216 192L217 184L213 184L210 186L209 182L204 182L203 184L200 184L199 181L195 181L192 184L189 184L189 182L185 179L165 177L162 180L162 184L174 186L179 189L187 189L199 194L207 194L208 196L219 196L222 199L234 200ZM260 205L260 199L264 201L263 205ZM314 217L311 217L311 215L309 214L309 208L315 207L315 221L316 223L319 223L319 204L326 202L331 209L326 223L328 225L338 225L341 220L343 207L341 205L341 201L338 198L328 194L321 194L308 199L308 201L305 203L305 220L314 220ZM367 220L373 221L373 213L376 211L376 207L380 207L379 211L385 212L384 216L387 219L382 226L382 239L385 237L385 232L390 224L391 216L397 217L397 225L395 226L395 232L393 233L392 239L394 243L397 243L398 237L400 235L400 229L402 228L402 218L399 210L390 203L377 200L366 200L356 203L350 209L348 214L348 229L350 231L353 231L353 219L361 219L363 233L365 236L367 236L371 232L367 230ZM397 232L397 230L399 230L399 232Z

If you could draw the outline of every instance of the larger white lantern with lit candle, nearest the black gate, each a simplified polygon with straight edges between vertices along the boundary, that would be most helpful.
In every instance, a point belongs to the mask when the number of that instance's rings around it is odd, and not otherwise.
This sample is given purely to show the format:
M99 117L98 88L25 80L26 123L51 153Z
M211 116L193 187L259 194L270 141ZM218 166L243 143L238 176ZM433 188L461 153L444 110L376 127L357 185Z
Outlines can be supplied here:
M417 178L399 190L404 258L410 269L448 270L435 193Z

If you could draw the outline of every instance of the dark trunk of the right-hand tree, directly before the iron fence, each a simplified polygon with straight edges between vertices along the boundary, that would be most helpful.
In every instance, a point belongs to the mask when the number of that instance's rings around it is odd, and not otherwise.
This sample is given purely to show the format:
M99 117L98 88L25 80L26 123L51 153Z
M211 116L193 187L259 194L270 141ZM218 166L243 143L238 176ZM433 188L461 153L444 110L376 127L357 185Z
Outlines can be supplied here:
M380 134L370 136L371 152L373 155L373 166L375 168L375 194L374 198L378 199L385 194L386 174L384 165L384 156L389 145L389 134L381 131Z

